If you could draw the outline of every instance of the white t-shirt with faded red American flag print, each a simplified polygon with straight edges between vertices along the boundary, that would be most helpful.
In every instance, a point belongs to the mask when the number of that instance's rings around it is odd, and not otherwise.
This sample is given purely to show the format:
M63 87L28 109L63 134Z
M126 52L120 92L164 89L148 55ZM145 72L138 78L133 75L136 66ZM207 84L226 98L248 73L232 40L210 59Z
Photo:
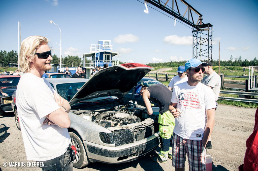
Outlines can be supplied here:
M171 102L182 111L175 118L174 133L185 139L202 140L206 110L216 108L212 90L202 83L189 86L183 82L174 87Z

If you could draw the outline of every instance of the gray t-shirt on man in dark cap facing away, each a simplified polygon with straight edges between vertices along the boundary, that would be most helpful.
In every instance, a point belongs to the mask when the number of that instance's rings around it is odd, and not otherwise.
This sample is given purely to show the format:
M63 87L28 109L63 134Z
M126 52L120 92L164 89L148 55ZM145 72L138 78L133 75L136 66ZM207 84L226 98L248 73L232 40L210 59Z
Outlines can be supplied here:
M215 71L210 74L210 75L206 75L203 80L201 80L201 83L205 84L206 86L211 86L212 87L212 91L215 95L215 99L216 101L219 98L219 94L220 94L220 84L221 84L221 79L219 74L217 74Z

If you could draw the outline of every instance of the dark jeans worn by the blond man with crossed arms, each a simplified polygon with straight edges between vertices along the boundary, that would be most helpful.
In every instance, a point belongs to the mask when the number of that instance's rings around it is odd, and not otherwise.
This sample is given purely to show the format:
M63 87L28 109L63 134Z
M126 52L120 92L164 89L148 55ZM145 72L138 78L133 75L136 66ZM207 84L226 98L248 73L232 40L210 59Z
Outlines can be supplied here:
M71 162L71 158L70 158L70 150L67 149L67 151L65 152L65 154L53 158L51 160L46 160L43 161L44 162L44 167L40 167L42 168L42 171L70 171L72 170L72 162Z

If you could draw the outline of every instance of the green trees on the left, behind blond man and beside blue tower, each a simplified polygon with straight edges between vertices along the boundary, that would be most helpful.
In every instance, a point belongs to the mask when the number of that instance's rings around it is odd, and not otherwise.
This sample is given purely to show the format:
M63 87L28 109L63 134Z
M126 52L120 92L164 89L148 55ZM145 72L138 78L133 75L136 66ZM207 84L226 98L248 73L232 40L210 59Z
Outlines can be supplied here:
M51 63L59 64L59 58L56 54L51 55L53 60ZM66 56L63 58L62 64L66 67L77 67L80 66L82 63L81 58L78 56ZM0 67L14 67L15 64L18 64L18 53L17 51L1 51L0 52Z

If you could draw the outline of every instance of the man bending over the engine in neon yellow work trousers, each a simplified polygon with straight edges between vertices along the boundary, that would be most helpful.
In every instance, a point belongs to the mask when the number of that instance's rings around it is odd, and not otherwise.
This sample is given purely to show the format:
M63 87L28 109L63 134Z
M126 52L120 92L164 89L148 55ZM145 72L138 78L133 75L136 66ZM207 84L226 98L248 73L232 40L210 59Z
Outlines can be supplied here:
M147 113L152 115L150 100L157 103L159 107L159 135L162 138L158 156L151 159L156 162L166 163L172 159L172 133L175 126L175 118L168 111L172 92L163 84L156 84L150 87L138 85L135 88L136 94L140 94L147 108Z

